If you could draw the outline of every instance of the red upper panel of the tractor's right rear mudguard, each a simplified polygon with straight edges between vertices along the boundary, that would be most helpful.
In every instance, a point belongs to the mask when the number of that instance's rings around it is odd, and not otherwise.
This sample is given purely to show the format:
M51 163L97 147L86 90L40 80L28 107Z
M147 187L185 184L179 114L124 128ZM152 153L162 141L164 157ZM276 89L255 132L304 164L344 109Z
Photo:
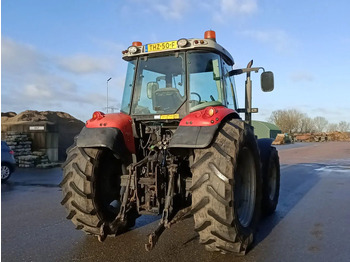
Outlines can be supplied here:
M227 115L237 113L224 106L209 106L185 116L180 126L213 126L219 124Z

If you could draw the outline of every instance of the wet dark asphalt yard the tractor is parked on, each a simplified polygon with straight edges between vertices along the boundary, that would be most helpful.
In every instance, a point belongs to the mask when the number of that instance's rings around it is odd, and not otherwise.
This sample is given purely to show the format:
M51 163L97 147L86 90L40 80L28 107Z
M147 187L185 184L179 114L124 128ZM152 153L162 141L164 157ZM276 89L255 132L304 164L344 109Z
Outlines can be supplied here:
M151 253L144 243L154 217L99 243L65 219L55 168L19 169L2 185L2 261L350 261L350 143L279 147L279 153L277 211L261 222L244 257L206 252L193 219L166 231Z

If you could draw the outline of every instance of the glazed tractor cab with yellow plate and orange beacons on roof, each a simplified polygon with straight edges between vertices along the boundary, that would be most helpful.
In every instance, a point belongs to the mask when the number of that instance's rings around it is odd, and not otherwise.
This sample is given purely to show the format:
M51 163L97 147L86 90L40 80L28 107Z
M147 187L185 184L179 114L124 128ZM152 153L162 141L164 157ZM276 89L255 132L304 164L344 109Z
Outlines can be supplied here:
M207 31L204 39L180 39L123 51L128 61L121 111L134 118L182 119L208 106L237 109L231 55Z

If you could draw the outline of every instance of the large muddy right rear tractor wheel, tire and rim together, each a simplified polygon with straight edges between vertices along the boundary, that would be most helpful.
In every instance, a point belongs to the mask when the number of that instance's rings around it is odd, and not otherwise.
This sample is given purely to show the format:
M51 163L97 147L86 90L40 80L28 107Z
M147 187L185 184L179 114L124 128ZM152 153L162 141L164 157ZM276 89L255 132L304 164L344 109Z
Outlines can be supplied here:
M192 212L200 243L209 251L244 255L261 212L262 178L254 134L242 120L229 120L211 146L195 149L194 155Z

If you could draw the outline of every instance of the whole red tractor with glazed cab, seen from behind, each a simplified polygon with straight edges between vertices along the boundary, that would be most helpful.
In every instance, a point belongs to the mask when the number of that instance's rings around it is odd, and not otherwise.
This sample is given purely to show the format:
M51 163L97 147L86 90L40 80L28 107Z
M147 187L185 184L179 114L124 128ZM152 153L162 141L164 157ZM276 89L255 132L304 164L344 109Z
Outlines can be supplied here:
M143 45L123 53L127 73L120 113L94 112L67 150L62 205L76 229L104 241L161 215L148 236L193 216L209 251L244 255L261 215L275 211L280 165L271 139L251 126L251 73L272 91L273 73L233 69L233 58L204 38ZM234 76L245 74L245 108ZM242 120L239 113L245 113Z

